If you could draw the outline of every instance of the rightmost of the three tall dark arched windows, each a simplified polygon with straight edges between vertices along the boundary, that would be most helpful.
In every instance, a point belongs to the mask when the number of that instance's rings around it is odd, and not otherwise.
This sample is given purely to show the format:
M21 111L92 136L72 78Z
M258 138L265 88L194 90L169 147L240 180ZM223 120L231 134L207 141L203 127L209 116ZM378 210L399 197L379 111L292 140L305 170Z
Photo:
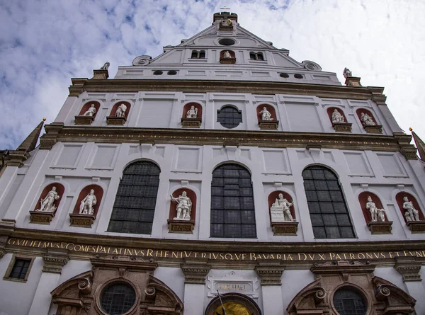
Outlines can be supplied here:
M335 173L323 166L302 171L308 210L315 239L351 239L356 237L341 185Z

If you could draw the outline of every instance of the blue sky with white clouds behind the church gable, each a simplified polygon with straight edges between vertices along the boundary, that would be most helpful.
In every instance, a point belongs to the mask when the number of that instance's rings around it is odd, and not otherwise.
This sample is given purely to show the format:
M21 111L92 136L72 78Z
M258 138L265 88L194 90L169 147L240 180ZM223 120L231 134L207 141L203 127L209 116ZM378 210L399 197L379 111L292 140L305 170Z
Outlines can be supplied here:
M55 120L71 78L156 57L227 6L263 40L324 71L348 67L383 86L400 127L425 139L424 0L0 0L0 149L16 149L43 117ZM227 11L227 10L226 10Z

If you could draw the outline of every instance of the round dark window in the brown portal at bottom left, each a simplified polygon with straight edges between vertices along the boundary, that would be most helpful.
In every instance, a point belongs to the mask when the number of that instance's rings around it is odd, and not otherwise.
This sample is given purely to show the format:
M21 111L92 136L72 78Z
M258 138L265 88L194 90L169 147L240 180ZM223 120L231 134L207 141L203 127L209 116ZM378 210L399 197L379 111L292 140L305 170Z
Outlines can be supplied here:
M131 285L119 283L110 285L103 291L101 307L106 314L125 314L136 302L136 292Z

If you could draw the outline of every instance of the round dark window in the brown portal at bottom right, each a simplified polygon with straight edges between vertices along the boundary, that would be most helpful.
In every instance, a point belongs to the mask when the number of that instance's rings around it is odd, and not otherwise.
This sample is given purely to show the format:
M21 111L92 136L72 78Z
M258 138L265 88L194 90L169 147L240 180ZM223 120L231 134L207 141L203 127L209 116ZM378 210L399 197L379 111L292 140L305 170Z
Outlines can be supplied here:
M365 315L367 311L362 294L346 287L335 292L334 307L339 315Z

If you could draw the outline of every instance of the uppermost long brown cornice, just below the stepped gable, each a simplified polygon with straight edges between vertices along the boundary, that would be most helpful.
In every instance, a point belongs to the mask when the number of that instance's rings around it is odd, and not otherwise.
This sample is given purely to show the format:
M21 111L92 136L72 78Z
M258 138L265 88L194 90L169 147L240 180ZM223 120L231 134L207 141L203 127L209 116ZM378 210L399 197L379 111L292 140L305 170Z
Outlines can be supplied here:
M74 78L69 86L69 96L86 92L138 92L138 91L179 91L186 93L253 93L253 94L296 94L322 98L348 98L368 100L375 98L379 105L385 105L383 88L371 86L339 86L324 84L301 84L273 81L225 81L225 80L147 80L112 79L94 80Z

